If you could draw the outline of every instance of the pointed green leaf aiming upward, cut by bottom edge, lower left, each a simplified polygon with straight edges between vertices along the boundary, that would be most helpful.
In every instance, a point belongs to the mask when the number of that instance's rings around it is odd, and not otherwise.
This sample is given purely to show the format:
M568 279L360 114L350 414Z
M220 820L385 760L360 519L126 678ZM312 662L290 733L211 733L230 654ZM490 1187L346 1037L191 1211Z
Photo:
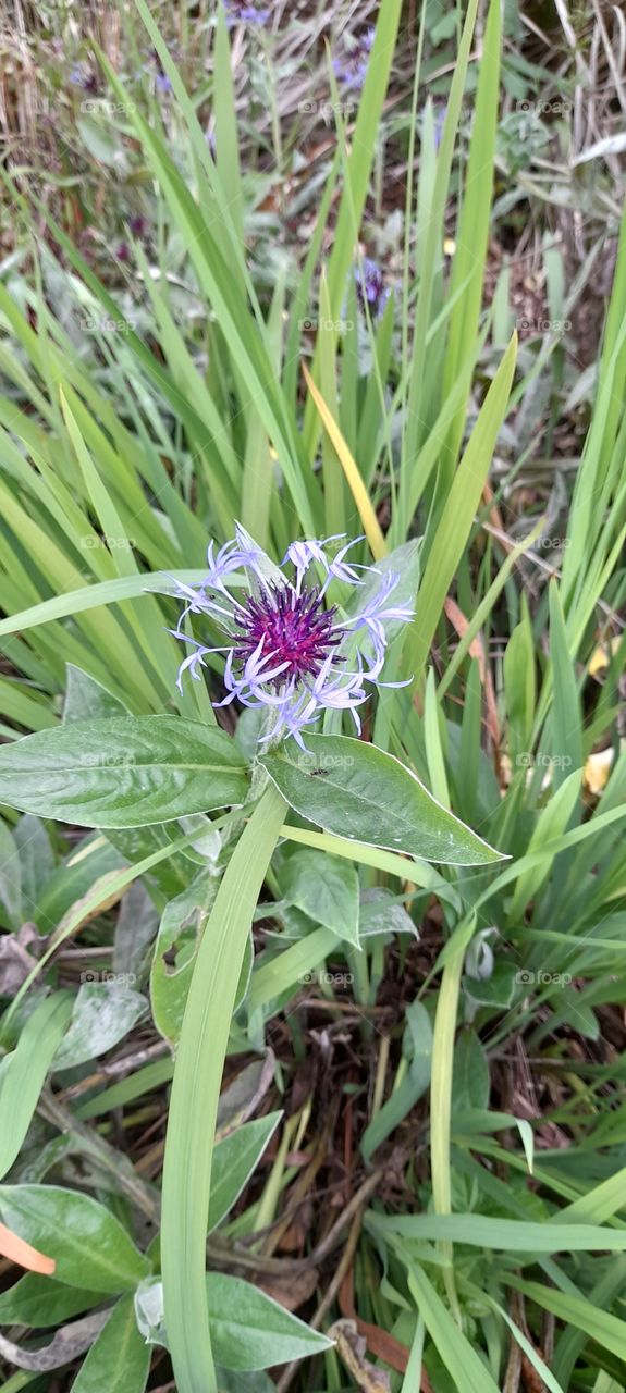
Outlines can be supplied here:
M137 1329L132 1297L123 1297L93 1341L72 1393L144 1393L151 1347Z

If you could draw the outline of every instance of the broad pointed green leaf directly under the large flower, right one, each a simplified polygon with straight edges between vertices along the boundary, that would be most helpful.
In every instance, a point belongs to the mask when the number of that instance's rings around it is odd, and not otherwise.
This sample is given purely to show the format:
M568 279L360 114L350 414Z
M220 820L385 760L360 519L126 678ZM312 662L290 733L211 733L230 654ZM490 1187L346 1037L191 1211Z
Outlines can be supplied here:
M425 861L489 865L502 859L399 759L361 740L307 736L307 754L291 742L264 755L261 763L290 807L328 832Z

